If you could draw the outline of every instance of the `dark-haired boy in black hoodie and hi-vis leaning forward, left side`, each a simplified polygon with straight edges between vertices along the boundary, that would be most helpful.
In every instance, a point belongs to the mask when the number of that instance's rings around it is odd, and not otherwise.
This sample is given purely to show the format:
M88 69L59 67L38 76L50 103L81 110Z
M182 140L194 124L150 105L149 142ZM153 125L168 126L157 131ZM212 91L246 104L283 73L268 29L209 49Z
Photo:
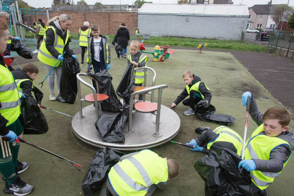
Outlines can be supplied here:
M20 68L12 71L19 92L26 96L33 97L31 90L33 88L33 80L36 79L39 69L33 63L27 63L22 70Z

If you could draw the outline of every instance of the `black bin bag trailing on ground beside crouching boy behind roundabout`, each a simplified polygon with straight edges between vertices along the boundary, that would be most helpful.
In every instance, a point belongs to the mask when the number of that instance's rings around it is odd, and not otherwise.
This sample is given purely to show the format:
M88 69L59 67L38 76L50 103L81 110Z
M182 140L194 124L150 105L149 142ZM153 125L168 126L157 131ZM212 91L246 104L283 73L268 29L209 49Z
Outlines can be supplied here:
M232 124L236 118L231 115L215 114L216 108L208 104L204 100L199 101L195 106L194 114L203 121L213 121L217 124L228 126Z

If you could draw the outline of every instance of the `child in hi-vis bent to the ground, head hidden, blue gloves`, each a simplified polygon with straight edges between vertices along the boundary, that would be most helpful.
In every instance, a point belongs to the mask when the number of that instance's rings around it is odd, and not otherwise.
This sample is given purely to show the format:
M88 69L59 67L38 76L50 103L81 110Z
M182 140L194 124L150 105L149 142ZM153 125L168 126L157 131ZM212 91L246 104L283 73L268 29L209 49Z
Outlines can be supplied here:
M195 129L195 132L200 135L196 139L186 143L187 145L193 146L193 148L190 148L191 151L208 154L213 149L228 148L240 156L243 139L232 129L226 126L219 126L211 131L209 126L200 126Z

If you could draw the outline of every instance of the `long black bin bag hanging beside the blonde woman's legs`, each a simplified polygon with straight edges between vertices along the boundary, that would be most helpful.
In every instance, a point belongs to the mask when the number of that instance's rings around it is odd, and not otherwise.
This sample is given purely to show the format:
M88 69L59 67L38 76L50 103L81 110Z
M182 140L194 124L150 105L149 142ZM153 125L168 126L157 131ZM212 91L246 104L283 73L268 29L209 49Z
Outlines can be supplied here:
M73 57L64 59L61 70L60 92L56 97L57 101L74 104L78 92L76 75L80 71L80 63L77 59Z

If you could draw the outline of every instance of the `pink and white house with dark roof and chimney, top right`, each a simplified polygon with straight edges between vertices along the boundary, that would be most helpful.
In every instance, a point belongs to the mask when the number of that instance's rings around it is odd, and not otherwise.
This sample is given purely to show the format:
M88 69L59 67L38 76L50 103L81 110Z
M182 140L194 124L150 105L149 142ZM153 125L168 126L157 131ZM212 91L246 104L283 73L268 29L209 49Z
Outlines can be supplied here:
M272 4L272 1L266 5L254 5L249 8L249 18L247 22L247 28L266 28L276 27L275 22L270 17L273 15L275 6L282 4Z

